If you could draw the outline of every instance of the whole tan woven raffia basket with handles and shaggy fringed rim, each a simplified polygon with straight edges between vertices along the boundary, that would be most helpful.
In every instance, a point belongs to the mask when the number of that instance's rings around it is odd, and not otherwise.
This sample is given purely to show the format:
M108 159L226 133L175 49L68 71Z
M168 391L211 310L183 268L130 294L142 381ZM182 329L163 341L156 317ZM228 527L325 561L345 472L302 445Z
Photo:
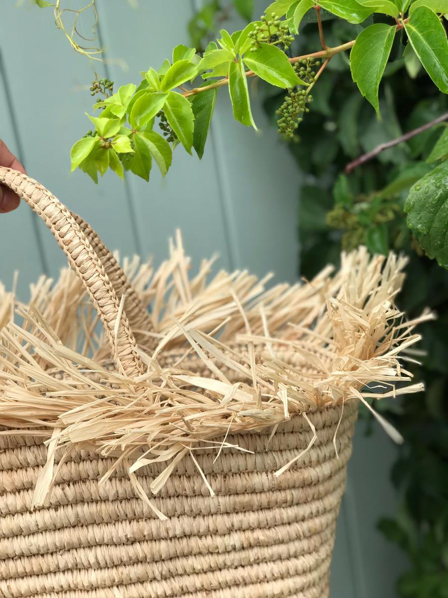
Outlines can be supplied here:
M178 237L156 272L120 267L44 187L0 182L74 271L26 305L0 285L0 596L329 596L358 401L421 389L404 261L360 249L265 291L189 278Z

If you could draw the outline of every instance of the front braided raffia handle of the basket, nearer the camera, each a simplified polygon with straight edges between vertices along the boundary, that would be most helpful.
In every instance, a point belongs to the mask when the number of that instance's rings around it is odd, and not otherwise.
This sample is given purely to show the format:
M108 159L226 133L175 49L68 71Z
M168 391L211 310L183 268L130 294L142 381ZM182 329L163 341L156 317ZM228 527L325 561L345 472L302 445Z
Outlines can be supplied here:
M76 218L50 191L18 170L0 166L0 184L17 193L50 228L93 300L118 368L129 377L142 374L145 366L137 353L127 316L124 310L120 316L120 301L105 266Z

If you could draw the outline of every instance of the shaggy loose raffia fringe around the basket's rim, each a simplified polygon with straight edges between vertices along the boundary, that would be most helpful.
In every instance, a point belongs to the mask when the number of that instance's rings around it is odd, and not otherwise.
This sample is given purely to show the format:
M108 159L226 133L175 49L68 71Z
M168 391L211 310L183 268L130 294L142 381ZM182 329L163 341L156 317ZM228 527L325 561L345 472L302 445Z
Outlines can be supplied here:
M312 429L311 411L353 400L370 407L366 399L422 390L409 384L403 362L412 361L409 347L420 340L413 329L433 316L406 322L394 306L403 257L371 258L360 248L342 254L335 274L327 267L310 282L268 290L269 276L258 280L247 271L219 271L207 282L213 262L204 260L189 277L180 235L157 271L138 258L124 261L151 306L148 339L159 341L151 354L140 347L147 371L137 379L111 367L96 313L71 270L55 283L39 279L26 305L0 285L0 425L4 433L47 438L34 505L48 499L57 451L60 467L78 447L116 457L102 481L128 463L137 493L163 518L135 475L144 465L167 463L151 484L156 494L184 457L199 468L194 452L201 447L215 446L217 457L224 447L238 450L226 443L229 434L266 426L274 434L300 414ZM277 475L311 449L313 432L307 449Z

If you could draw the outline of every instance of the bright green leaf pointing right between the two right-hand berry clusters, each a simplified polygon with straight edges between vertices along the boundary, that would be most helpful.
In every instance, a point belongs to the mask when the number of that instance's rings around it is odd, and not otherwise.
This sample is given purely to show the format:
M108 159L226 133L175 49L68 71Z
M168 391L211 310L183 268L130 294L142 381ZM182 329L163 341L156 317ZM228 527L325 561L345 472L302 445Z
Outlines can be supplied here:
M244 63L261 79L277 87L306 85L297 77L286 54L275 45L260 44L256 51L244 56Z

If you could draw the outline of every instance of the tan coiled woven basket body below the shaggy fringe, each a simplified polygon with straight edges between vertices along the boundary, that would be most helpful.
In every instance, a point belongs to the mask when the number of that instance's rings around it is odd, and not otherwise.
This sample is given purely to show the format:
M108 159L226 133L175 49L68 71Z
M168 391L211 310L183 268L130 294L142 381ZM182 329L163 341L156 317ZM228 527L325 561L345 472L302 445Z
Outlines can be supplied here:
M0 436L0 596L2 598L324 598L346 463L357 417L354 401L271 429L228 437L247 453L195 454L211 497L188 456L154 502L161 521L135 495L123 465L102 486L113 458L72 453L47 507L31 511L46 449L37 437ZM335 454L333 437L337 430ZM162 466L142 468L149 484Z

